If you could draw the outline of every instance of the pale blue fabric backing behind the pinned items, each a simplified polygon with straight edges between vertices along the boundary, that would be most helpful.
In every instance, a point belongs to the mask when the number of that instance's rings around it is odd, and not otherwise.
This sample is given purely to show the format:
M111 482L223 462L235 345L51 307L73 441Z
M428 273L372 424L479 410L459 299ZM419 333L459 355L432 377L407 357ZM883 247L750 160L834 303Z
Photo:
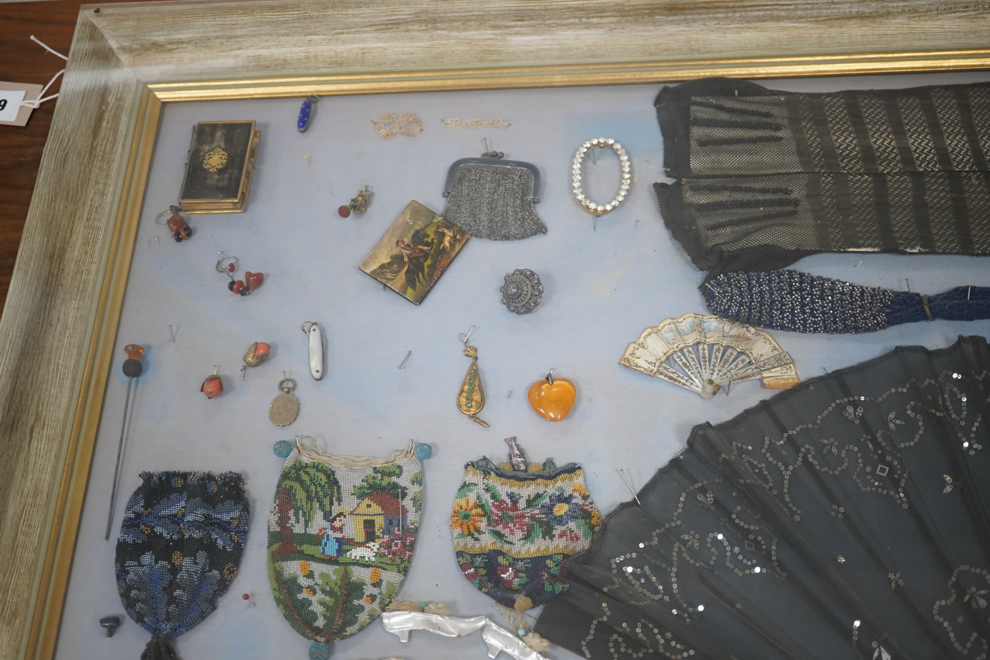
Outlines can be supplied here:
M990 79L990 73L760 81L771 88L832 91L906 87ZM674 385L618 365L627 345L648 326L688 312L707 313L698 285L704 274L663 228L651 184L662 180L662 154L652 100L659 85L324 97L310 128L295 128L302 99L180 103L164 107L145 208L107 388L89 489L79 530L56 657L136 660L148 634L126 619L113 638L100 616L123 613L114 581L117 509L110 541L103 531L127 379L122 346L148 352L132 393L120 501L143 470L235 470L245 477L251 530L241 573L219 610L176 642L185 660L305 660L310 642L275 607L265 569L268 510L282 460L278 439L317 437L324 450L383 456L410 438L429 442L424 462L425 509L412 569L401 591L417 601L446 602L452 613L488 613L492 601L461 576L448 526L463 465L482 454L501 459L502 438L516 435L531 460L584 465L587 485L604 513L675 454L694 424L721 422L773 391L734 386L729 397L704 401ZM423 133L380 140L371 120L383 112L415 112ZM512 126L447 129L441 120L500 117ZM156 213L175 204L190 129L198 121L254 119L261 130L257 171L243 214L189 216L196 234L175 243ZM614 138L629 151L637 179L622 206L592 231L592 217L574 200L570 164L582 141ZM444 208L446 168L489 146L541 169L537 212L548 233L514 242L468 241L420 307L357 270L371 246L412 199ZM601 151L585 167L595 200L618 186L618 160ZM347 220L337 208L363 185L374 198ZM157 240L155 240L157 238ZM241 298L214 271L217 250L240 257L238 275L261 271L264 284ZM979 257L844 253L803 259L794 268L858 284L935 294L953 286L990 284L990 260ZM516 316L500 303L505 273L532 268L545 283L536 313ZM307 363L304 321L326 334L327 376L315 382ZM175 342L168 326L176 330ZM483 428L457 412L454 397L469 360L457 333L478 328L471 343L487 394ZM874 357L898 344L945 346L958 333L990 333L990 322L911 324L862 335L772 334L803 378ZM241 356L252 341L272 355L240 381ZM412 349L406 367L397 366ZM219 364L225 392L208 401L203 378ZM578 400L559 424L529 407L529 385L553 367L574 381ZM278 428L267 418L282 371L299 384L298 420ZM512 390L512 397L507 393ZM241 595L249 593L257 607ZM497 616L497 615L496 615ZM552 648L562 660L577 656ZM413 632L407 645L372 623L337 642L335 660L402 657L453 660L485 657L478 634L445 639Z

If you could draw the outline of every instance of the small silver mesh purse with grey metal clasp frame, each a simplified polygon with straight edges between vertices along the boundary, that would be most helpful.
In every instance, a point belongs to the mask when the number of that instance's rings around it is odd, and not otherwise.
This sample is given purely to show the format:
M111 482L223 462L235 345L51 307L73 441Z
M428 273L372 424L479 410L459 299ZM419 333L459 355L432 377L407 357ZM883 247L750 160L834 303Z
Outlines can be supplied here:
M546 234L533 205L540 170L521 160L460 158L446 172L444 219L477 238L519 240Z

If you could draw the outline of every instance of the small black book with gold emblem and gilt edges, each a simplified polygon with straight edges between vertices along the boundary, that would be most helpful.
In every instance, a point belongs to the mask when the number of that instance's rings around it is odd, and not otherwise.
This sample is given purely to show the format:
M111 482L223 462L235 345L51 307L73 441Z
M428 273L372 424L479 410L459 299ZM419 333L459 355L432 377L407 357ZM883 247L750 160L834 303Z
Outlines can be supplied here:
M186 213L239 213L261 132L253 120L200 122L193 128L179 205Z

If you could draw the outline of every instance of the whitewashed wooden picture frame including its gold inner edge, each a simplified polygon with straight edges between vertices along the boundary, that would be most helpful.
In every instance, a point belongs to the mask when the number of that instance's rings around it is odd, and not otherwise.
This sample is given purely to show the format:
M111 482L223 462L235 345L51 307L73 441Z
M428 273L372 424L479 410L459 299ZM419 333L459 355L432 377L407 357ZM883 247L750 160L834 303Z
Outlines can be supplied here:
M970 0L85 5L0 320L0 659L52 657L163 103L990 67Z

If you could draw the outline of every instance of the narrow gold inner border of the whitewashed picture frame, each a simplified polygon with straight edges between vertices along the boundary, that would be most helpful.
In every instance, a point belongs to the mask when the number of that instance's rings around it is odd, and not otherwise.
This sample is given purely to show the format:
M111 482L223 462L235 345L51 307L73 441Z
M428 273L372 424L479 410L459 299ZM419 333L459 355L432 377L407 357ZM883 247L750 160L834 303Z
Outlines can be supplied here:
M919 73L990 68L990 48L855 53L806 57L748 57L615 64L437 69L372 74L243 78L144 85L135 118L124 186L107 254L85 369L76 397L65 462L49 526L47 551L23 657L54 655L68 586L107 374L138 234L148 169L163 103L257 98L527 87L655 84L706 76L784 78ZM13 652L17 652L14 649ZM6 656L5 656L6 657ZM13 657L13 656L10 656Z

